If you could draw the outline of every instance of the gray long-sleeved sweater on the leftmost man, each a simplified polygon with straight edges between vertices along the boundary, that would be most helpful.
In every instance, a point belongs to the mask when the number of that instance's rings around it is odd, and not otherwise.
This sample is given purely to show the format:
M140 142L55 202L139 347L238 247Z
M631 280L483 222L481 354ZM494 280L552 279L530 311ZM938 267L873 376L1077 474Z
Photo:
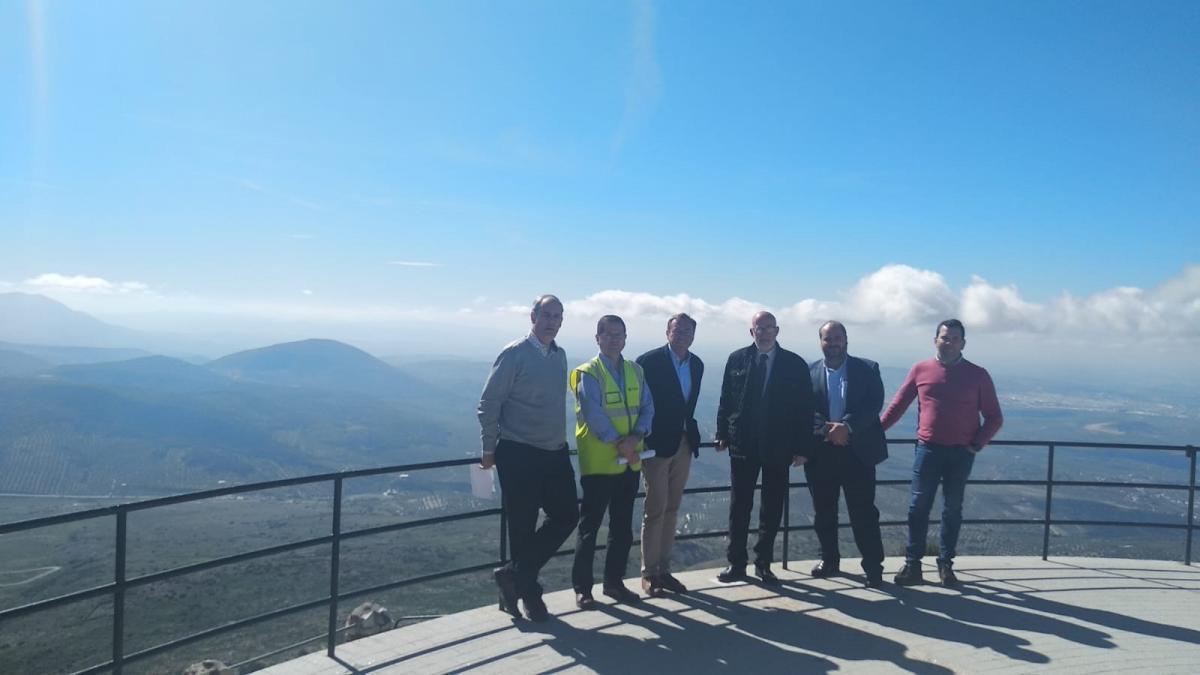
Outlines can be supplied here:
M484 453L498 440L544 450L566 443L566 353L551 342L542 354L529 338L510 342L496 357L479 398Z

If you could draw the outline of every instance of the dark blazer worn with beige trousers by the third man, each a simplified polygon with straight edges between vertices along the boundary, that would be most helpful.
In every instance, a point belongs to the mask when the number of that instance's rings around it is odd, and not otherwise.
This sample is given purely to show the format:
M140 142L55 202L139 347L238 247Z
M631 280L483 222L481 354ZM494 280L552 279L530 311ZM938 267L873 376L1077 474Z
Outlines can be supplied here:
M664 345L637 357L637 365L646 374L646 386L654 398L654 422L646 447L660 458L673 456L679 450L679 435L688 432L691 454L700 456L700 426L696 425L696 401L700 399L700 381L704 377L704 362L691 354L688 368L691 371L691 390L683 398L679 376L676 375L671 347Z

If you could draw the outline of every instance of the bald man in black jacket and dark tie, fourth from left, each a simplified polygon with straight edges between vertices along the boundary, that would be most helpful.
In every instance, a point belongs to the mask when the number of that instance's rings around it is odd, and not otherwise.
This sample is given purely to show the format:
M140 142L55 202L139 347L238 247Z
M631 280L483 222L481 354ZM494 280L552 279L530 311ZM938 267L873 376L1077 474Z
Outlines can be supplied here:
M730 452L732 484L730 566L718 580L727 584L746 579L746 537L761 472L755 575L763 583L778 584L770 562L784 515L787 467L804 465L815 446L812 382L809 364L775 341L779 325L774 315L767 311L754 315L750 335L754 345L733 352L725 364L716 411L716 450Z

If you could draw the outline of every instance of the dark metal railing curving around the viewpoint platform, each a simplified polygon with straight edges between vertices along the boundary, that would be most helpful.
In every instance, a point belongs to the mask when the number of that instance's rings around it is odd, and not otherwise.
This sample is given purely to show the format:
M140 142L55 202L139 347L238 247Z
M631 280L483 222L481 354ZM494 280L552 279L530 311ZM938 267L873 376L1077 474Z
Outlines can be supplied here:
M913 444L916 443L912 438L905 440L890 440L889 444ZM1024 485L1024 486L1045 486L1045 512L1040 519L964 519L964 524L976 524L976 525L1042 525L1043 526L1043 543L1042 543L1042 558L1045 560L1049 556L1050 549L1050 527L1054 525L1084 525L1084 526L1134 526L1134 527L1156 527L1156 528L1168 528L1168 530L1184 530L1187 532L1187 543L1183 552L1183 562L1186 565L1192 563L1192 538L1195 530L1195 492L1196 492L1196 448L1193 446L1162 446L1162 444L1136 444L1136 443L1082 443L1082 442L1058 442L1058 441L992 441L991 446L1015 446L1015 447L1045 447L1048 449L1046 455L1046 477L1044 480L1007 480L1007 479L973 479L968 480L972 485ZM702 447L713 447L712 443L703 443ZM1103 449L1103 450L1158 450L1158 452L1175 452L1184 453L1189 459L1188 470L1188 482L1182 483L1129 483L1129 482L1103 482L1103 480L1056 480L1054 477L1055 467L1055 450L1056 448L1084 448L1084 449ZM24 605L8 608L0 610L0 621L12 620L40 611L49 610L52 608L66 605L70 603L100 598L108 596L113 602L113 635L112 635L112 657L109 661L98 663L85 670L77 671L77 675L91 674L91 673L103 673L110 671L115 675L120 675L125 665L144 661L152 656L164 653L169 650L181 647L198 640L206 638L212 638L233 631L240 631L250 626L262 623L264 621L278 619L282 616L288 616L299 611L311 610L320 607L328 608L328 627L326 633L323 635L326 640L326 653L332 657L335 656L335 650L337 645L337 610L341 601L377 593L382 591L389 591L394 589L400 589L404 586L413 586L419 584L427 584L431 581L437 581L440 579L457 577L462 574L473 574L478 572L484 572L492 569L496 566L504 565L508 560L508 537L505 527L505 514L503 502L499 508L479 509L466 513L458 513L454 515L442 515L434 518L426 518L421 520L412 520L404 522L395 522L390 525L382 525L374 527L364 527L359 530L343 531L342 530L342 501L343 501L343 484L346 480L352 478L365 478L372 476L383 476L390 473L410 473L415 471L427 471L434 468L446 468L456 466L468 466L475 464L474 459L462 459L451 461L436 461L436 462L424 462L424 464L408 464L398 466L386 466L379 468L367 468L359 471L344 471L337 473L322 473L316 476L306 476L299 478L287 478L281 480L269 480L264 483L252 483L247 485L235 485L229 488L220 488L215 490L204 490L199 492L191 492L186 495L176 495L169 497L152 498L139 502L131 502L124 504L115 504L108 507L101 507L95 509L80 510L76 513L52 515L46 518L36 518L31 520L22 520L8 524L0 524L0 536L10 534L14 532L26 532L40 530L43 527L49 527L53 525L62 525L67 522L78 522L83 520L97 519L113 516L115 521L115 539L114 539L114 574L113 581L110 584L102 584L90 589L84 589L82 591L76 591L72 593L66 593L56 596L53 598L28 603ZM302 539L298 542L290 542L287 544L278 544L274 546L260 548L251 551L244 551L240 554L234 554L224 557L218 557L214 560L208 560L204 562L197 562L192 565L185 565L181 567L175 567L172 569L154 572L150 574L143 574L138 577L127 578L126 577L126 544L127 544L127 518L130 513L149 510L173 504L180 504L186 502L197 502L202 500L210 500L215 497L226 497L232 495L242 495L246 492L256 492L263 490L272 490L278 488L290 488L299 485L314 485L323 483L332 483L334 496L332 496L332 525L331 531L326 536L313 537L308 539ZM907 485L908 480L878 480L878 485ZM791 500L790 494L792 488L805 488L808 483L797 482L788 484L787 495L785 495L785 508L784 508L784 524L782 531L782 565L786 568L788 563L788 533L794 531L811 530L811 525L792 525L790 512L791 512ZM1054 501L1054 489L1056 486L1062 488L1141 488L1141 489L1154 489L1154 490L1187 490L1188 492L1188 509L1187 509L1187 522L1135 522L1135 521L1114 521L1114 520L1055 520L1052 518L1052 501ZM716 492L728 492L728 486L710 486L710 488L690 488L684 490L685 494L697 495L697 494L716 494ZM643 496L638 494L638 496ZM341 563L341 543L347 539L368 537L374 534L383 534L386 532L396 532L401 530L409 530L414 527L421 527L426 525L437 525L444 522L452 522L458 520L486 518L498 515L500 519L500 536L499 536L499 556L498 560L482 562L479 565L472 565L467 567L460 567L455 569L448 569L437 572L433 574L425 574L421 577L414 577L408 579L401 579L396 581L389 581L385 584L378 584L362 589L354 589L350 591L343 591L340 585L340 563ZM936 522L936 521L935 521ZM900 526L906 525L907 521L883 521L880 525L888 526ZM678 540L686 539L702 539L702 538L715 538L724 537L728 532L724 530L719 531L706 531L706 532L694 532L679 534ZM215 569L218 567L224 567L228 565L234 565L239 562L246 562L250 560L256 560L259 557L265 557L270 555L282 554L287 551L294 551L300 549L307 549L319 545L330 545L330 574L329 574L329 596L324 598L317 598L307 601L299 604L293 604L289 607L283 607L268 611L264 614L258 614L254 616L240 619L228 623L222 623L212 628L208 628L182 638L178 638L167 643L162 643L151 647L146 647L139 651L125 652L125 593L130 589L144 586L146 584L152 584L157 581L163 581L167 579L174 579L184 577L187 574L194 574L197 572L203 572L208 569ZM596 546L602 549L604 545ZM564 556L570 555L572 551L562 550L557 555ZM307 640L312 641L312 640Z

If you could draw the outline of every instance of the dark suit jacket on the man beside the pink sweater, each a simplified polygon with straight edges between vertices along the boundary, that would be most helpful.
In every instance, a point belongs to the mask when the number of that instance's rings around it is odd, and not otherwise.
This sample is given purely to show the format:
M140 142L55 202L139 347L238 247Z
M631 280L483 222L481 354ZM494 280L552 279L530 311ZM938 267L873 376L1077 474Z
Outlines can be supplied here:
M812 432L816 438L824 437L824 423L829 419L829 392L826 386L824 359L812 364L812 395L816 399ZM888 459L888 442L880 425L880 411L883 408L883 380L880 377L880 364L846 357L846 414L841 418L850 425L850 449L866 466L875 466ZM833 446L821 443L829 450Z

